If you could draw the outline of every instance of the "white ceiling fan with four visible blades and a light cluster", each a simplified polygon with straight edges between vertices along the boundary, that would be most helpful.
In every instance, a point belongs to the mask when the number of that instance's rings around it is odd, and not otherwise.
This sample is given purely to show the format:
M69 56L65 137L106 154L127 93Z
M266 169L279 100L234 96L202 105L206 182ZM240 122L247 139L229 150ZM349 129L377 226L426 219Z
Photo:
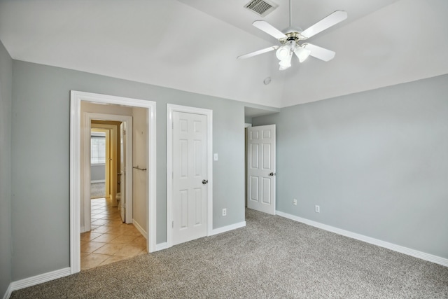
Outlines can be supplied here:
M283 30L285 33L276 29L266 21L255 21L252 23L253 26L278 39L281 46L271 46L269 48L238 56L237 59L253 57L255 55L276 50L276 57L280 60L280 71L288 69L291 66L293 55L297 56L299 62L304 62L309 55L325 62L332 60L333 57L335 57L335 52L332 50L314 46L311 43L300 43L300 41L309 39L311 36L342 22L347 18L347 13L345 11L335 11L308 29L302 31L300 28L292 27L292 8L292 1L289 0L289 27Z

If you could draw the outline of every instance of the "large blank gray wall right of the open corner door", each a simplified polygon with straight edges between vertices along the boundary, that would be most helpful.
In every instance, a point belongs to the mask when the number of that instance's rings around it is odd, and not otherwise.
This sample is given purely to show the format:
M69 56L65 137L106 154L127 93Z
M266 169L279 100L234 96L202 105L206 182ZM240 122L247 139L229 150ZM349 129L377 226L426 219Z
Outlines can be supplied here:
M448 258L448 75L253 118L271 123L279 211Z

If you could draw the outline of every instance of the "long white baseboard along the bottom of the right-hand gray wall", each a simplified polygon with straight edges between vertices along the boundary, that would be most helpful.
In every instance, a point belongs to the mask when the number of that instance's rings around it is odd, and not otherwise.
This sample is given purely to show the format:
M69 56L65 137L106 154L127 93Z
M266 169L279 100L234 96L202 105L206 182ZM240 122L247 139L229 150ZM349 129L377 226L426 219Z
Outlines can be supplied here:
M329 232L335 232L338 235L343 235L345 237L350 237L352 239L358 239L360 241L377 245L380 247L384 247L386 249L391 249L393 251L397 251L400 253L407 254L408 256L414 256L414 258L421 258L422 260L428 260L428 262L436 263L445 267L448 267L448 258L442 258L440 256L434 256L433 254L429 254L426 252L418 251L415 249L410 249L405 246L400 246L397 244L389 243L381 241L380 239L374 239L372 237L367 237L365 235L359 235L356 232L349 232L348 230L342 230L340 228L335 228L330 225L326 225L323 223L318 223L316 221L312 221L306 218L301 218L298 216L294 216L291 214L283 213L282 211L276 211L276 215L281 217L285 217L294 221L298 221L307 225L314 226L315 228L321 228L323 230L328 230Z

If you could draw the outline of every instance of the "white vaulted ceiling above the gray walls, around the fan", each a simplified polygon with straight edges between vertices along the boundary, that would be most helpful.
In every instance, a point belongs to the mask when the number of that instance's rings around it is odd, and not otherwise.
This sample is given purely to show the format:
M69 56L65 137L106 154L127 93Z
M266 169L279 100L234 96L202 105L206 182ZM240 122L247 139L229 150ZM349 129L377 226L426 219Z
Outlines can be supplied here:
M265 18L248 1L0 0L0 40L15 60L277 108L448 74L447 0L293 0L302 29L349 18L309 40L335 59L286 71L274 53L236 59L277 44L254 20L288 27L288 0Z

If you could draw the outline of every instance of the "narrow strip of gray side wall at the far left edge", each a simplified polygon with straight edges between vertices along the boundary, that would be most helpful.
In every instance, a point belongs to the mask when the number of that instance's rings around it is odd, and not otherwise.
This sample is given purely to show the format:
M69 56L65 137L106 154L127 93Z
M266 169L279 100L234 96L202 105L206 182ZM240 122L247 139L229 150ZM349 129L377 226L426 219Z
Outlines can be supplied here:
M0 41L0 296L11 282L11 106L13 60Z

